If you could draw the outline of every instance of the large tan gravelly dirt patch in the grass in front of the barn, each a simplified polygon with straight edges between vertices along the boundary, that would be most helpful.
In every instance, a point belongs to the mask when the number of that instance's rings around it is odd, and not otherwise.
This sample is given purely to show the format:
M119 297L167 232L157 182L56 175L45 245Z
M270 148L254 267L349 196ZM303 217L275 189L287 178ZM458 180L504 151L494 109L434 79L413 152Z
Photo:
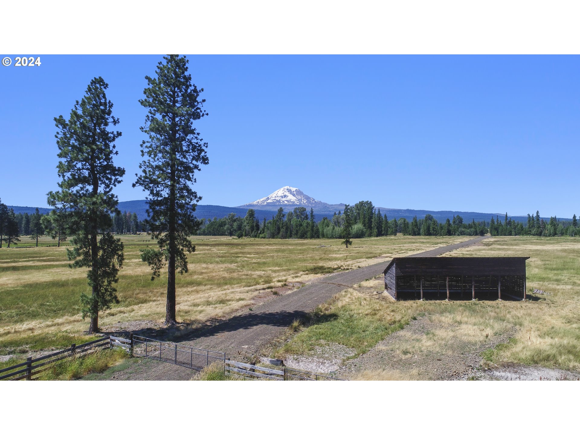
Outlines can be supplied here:
M467 341L456 335L459 328L461 325L419 317L364 355L347 361L338 369L338 376L375 379L376 372L387 375L392 371L411 379L466 379L480 367L482 351L507 342L516 332L515 327L507 327L501 335ZM367 375L361 376L363 373Z

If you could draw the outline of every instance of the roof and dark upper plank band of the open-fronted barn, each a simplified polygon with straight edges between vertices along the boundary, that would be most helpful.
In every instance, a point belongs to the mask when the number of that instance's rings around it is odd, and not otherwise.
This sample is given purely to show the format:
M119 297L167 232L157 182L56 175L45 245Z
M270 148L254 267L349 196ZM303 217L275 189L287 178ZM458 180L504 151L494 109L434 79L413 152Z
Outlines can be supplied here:
M383 273L394 267L395 275L525 275L530 257L398 257Z

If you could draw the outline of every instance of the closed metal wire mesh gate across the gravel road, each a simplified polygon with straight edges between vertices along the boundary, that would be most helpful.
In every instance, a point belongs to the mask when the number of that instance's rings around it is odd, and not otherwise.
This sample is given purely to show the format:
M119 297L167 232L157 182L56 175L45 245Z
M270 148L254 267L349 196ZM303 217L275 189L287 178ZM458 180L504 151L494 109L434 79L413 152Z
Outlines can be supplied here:
M223 352L162 342L161 340L139 335L133 335L133 356L171 362L171 364L181 365L197 371L202 370L214 361L222 361L224 364L226 361L226 354Z

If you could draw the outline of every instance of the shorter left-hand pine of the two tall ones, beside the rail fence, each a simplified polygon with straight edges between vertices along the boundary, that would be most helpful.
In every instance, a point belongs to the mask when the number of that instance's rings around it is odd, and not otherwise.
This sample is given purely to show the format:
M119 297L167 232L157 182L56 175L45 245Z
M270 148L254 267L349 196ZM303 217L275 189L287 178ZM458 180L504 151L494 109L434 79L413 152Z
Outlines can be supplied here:
M48 204L66 220L63 225L73 235L74 248L67 249L68 259L74 260L70 267L89 269L92 293L81 294L82 317L90 317L89 333L99 331L99 311L119 302L113 285L124 260L121 240L107 232L113 225L111 213L119 212L112 191L125 174L125 169L113 164L118 154L114 142L121 132L107 129L119 123L112 115L107 88L103 78L92 79L68 121L62 115L55 118L62 181L60 191L48 193Z

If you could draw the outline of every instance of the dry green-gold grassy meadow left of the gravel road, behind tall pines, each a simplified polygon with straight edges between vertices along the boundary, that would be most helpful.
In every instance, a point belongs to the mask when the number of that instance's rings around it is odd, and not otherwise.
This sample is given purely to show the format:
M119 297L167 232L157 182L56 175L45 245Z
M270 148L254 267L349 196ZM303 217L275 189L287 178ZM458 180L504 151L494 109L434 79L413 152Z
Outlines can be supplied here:
M288 290L322 274L348 270L466 240L469 237L380 237L339 240L257 240L193 237L189 273L177 276L177 320L193 327L252 304L260 293ZM146 235L123 235L125 263L119 272L120 303L100 314L100 327L165 318L166 274L151 281L139 249L154 247ZM318 247L318 245L330 245ZM89 341L79 296L89 292L86 270L70 269L68 242L22 237L0 249L0 355L23 354ZM377 257L382 258L377 258ZM297 288L297 286L292 286ZM275 293L274 293L275 294Z

